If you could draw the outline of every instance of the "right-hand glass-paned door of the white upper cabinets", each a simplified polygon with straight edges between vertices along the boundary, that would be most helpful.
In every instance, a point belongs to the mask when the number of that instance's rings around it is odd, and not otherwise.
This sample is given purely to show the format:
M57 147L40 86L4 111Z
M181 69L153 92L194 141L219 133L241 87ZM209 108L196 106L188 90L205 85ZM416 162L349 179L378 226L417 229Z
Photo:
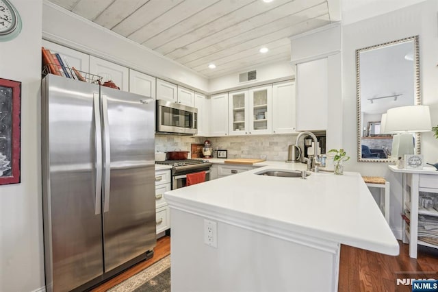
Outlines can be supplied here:
M249 90L249 134L272 133L272 85Z

